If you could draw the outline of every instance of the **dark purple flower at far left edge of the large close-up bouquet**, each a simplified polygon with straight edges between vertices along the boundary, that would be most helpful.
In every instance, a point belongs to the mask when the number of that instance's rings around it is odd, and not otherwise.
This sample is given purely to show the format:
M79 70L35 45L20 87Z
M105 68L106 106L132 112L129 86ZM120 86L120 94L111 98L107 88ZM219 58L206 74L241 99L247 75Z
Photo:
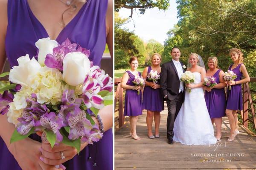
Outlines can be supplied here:
M9 103L13 102L14 95L8 90L3 92L3 95L0 94L0 107L3 109L0 111L1 115L4 115L8 112Z

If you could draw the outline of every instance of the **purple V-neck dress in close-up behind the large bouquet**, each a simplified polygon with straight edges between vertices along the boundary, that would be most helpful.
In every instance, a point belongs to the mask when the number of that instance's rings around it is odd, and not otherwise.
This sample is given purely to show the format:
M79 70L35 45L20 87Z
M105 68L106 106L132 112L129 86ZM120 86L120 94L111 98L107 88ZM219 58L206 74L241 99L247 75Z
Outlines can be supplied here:
M69 38L71 43L90 49L90 61L100 65L106 44L105 15L108 0L87 0L79 13L67 24L57 37L62 43ZM35 42L49 37L42 24L32 13L26 0L8 0L8 27L5 40L6 56L11 67L17 65L17 58L29 54L36 55ZM30 138L41 141L38 135ZM21 170L0 137L0 170ZM70 161L64 163L67 170L112 170L113 135L107 130L103 138L88 145ZM96 163L96 167L93 164Z

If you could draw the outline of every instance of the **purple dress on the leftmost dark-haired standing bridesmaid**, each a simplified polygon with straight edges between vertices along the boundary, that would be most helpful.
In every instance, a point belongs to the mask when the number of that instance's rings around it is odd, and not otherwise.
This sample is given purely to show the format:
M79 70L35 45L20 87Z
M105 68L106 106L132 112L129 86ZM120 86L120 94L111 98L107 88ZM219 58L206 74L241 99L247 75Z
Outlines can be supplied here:
M129 75L129 79L127 81L127 85L135 86L132 82L135 78L130 71L126 71ZM139 72L139 76L141 76ZM137 90L127 89L125 92L125 116L138 116L142 115L142 95L140 90L140 95L138 95Z

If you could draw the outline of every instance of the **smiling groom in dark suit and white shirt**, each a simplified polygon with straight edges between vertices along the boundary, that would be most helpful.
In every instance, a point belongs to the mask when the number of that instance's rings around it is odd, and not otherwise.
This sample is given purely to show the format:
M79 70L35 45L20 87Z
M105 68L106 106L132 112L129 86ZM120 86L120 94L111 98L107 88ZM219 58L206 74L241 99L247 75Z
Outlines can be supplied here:
M184 83L180 81L185 65L180 63L180 49L173 47L172 60L162 65L160 86L168 107L167 142L173 144L174 121L180 110L184 98Z

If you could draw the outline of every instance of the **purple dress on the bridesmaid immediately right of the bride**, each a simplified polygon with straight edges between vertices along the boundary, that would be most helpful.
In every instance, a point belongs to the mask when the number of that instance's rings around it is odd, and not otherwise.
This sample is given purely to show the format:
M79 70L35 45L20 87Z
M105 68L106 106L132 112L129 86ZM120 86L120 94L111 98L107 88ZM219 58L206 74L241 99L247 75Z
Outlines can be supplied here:
M221 69L218 69L217 72L213 75L216 78L217 84L220 83L219 72ZM210 115L210 118L221 118L226 115L226 95L224 88L222 89L212 89L211 92L205 90L204 98L206 106Z

